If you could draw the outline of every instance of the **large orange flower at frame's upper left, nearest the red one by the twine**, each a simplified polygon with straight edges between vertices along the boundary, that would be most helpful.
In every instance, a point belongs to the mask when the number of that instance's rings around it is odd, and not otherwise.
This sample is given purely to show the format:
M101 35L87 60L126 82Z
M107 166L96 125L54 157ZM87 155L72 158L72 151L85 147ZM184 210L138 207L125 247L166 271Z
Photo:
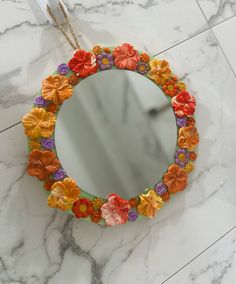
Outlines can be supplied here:
M49 76L42 83L42 97L45 100L61 104L72 96L72 86L69 79L63 75Z

